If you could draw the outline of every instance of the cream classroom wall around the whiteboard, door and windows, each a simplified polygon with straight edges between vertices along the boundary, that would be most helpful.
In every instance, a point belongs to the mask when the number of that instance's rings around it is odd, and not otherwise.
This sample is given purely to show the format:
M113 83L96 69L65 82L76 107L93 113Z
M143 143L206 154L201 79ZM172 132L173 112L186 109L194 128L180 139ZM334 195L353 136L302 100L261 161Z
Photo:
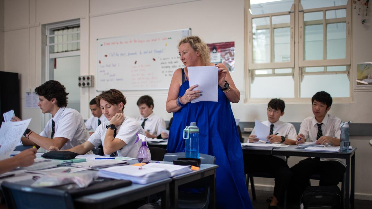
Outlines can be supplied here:
M244 103L246 94L244 0L5 0L4 8L4 41L1 41L0 17L0 68L1 43L3 43L4 70L21 74L21 117L32 118L30 128L36 132L44 128L41 127L43 115L39 109L25 109L24 95L27 89L35 89L44 82L42 80L42 72L45 70L42 59L44 57L42 49L45 48L42 46L43 28L46 24L73 19L80 19L81 22L81 75L96 74L97 38L192 28L192 34L201 36L207 43L234 41L235 72L231 73L231 76L241 91L241 100L237 104L232 104L233 112L244 122L267 119L266 103ZM356 64L371 61L372 42L369 41L369 36L372 28L369 21L361 25L360 19L354 17L356 16L353 15L352 19L351 71L352 77L355 78ZM174 54L177 53L177 49L174 49ZM97 94L94 88L80 89L80 109L84 119L89 118L89 101ZM165 110L166 90L124 91L128 100L124 110L126 115L132 117L138 115L136 102L144 94L153 96L154 112L169 120L171 114ZM371 92L354 92L353 102L335 103L330 113L343 120L372 123L371 102ZM310 115L312 115L310 99L308 103L287 102L286 113L282 120L301 122ZM366 168L362 165L362 162L372 160L367 138L355 139L358 146L356 156L360 160L356 164L355 189L356 193L362 194L361 197L364 199L372 196L372 186L368 176L372 171L366 172ZM265 186L272 185L265 181L257 181L257 183Z

